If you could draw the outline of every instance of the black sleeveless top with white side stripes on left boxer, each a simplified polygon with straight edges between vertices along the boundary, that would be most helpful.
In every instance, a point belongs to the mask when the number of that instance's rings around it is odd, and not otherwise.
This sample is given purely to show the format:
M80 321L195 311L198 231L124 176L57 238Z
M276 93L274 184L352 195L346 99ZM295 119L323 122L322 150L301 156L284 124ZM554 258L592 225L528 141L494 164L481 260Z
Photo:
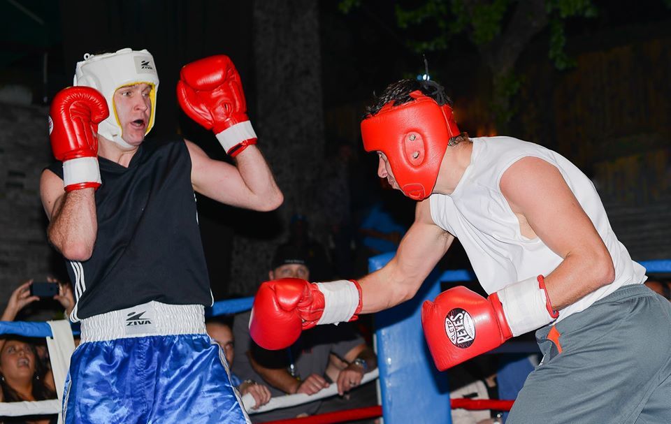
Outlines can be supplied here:
M212 305L184 140L143 142L128 168L99 157L98 235L88 261L67 261L71 319L150 300ZM63 177L62 163L48 169Z

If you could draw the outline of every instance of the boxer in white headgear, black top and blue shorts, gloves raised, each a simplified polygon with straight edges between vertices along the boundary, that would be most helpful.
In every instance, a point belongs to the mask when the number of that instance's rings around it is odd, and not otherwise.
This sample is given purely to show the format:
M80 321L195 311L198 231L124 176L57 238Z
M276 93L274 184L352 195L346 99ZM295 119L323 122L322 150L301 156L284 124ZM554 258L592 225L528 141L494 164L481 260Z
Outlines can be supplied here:
M52 101L58 162L40 183L49 240L75 287L71 319L82 328L64 422L249 422L205 332L212 293L194 194L259 211L282 203L233 62L219 55L184 66L178 99L235 165L178 137L145 143L159 88L147 50L87 54L73 85Z

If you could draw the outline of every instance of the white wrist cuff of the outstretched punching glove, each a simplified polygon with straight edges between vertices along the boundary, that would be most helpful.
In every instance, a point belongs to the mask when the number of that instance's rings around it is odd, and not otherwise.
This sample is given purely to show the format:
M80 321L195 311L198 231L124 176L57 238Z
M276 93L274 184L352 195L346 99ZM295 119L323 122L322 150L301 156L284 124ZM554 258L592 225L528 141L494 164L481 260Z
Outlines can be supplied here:
M359 306L359 290L346 279L337 282L317 283L324 293L324 313L317 325L337 324L352 319Z

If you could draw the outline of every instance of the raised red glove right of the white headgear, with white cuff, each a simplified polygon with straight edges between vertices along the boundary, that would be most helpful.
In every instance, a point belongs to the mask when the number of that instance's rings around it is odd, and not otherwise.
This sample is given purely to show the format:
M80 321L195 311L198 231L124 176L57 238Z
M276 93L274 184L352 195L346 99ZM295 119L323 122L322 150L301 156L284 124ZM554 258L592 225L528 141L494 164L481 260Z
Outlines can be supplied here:
M177 98L191 119L214 131L231 156L257 143L240 75L228 56L205 57L182 67Z

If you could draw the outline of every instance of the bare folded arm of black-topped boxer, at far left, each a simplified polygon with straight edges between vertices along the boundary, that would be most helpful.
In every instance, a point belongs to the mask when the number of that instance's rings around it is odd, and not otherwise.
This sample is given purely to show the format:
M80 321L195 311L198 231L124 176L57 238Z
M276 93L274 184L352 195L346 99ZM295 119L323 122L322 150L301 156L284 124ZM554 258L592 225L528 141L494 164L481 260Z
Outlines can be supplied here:
M50 170L40 179L42 205L50 221L51 244L72 261L86 261L96 242L98 223L94 189L66 192L63 180Z

